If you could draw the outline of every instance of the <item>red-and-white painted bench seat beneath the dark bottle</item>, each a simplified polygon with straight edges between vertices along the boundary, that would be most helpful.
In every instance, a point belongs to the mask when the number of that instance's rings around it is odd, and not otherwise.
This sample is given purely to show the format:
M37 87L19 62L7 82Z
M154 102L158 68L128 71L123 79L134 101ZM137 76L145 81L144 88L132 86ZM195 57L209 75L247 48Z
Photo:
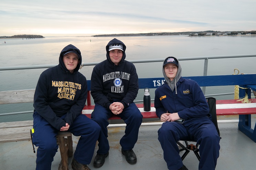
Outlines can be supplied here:
M248 104L242 104L241 101L237 100L216 100L216 114L217 116L221 115L237 115L237 114L256 114L256 99L250 99L250 107L247 107ZM136 104L140 109L143 119L145 118L158 118L154 109L154 104L151 103L151 111L143 111L143 104ZM232 108L240 105L242 108ZM255 105L255 106L254 106ZM221 108L220 108L221 107ZM94 105L84 106L82 111L88 118L90 118L90 113L92 113ZM113 115L109 120L120 119L118 116Z

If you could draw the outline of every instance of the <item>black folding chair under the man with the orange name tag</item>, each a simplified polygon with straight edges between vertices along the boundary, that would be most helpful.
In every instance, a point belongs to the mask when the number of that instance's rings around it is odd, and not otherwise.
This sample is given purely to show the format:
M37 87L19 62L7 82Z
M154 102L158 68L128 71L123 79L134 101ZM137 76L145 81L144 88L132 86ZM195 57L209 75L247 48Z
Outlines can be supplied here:
M208 98L206 98L206 100L207 100L208 106L210 108L210 112L209 112L211 114L210 117L212 118L212 122L214 123L216 130L218 132L218 135L220 136L220 131L218 129L218 123L217 123L217 116L216 116L216 99L213 97L208 97ZM185 153L181 156L181 160L183 160L188 155L188 153L191 150L193 150L195 156L200 161L200 155L198 153L199 152L199 148L198 148L199 144L193 140L188 140L188 141L184 141L184 142L185 142L186 146L184 146L179 141L177 142L177 144L181 147L180 151L185 150ZM189 144L189 143L196 143L196 144L194 145L194 144Z

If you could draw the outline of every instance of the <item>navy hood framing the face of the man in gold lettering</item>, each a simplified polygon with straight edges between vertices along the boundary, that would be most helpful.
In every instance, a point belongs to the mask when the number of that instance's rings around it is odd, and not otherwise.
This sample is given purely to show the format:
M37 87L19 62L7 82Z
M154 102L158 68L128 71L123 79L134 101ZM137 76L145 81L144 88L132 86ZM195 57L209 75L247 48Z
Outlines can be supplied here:
M73 46L72 44L67 45L66 47L64 47L64 48L62 49L62 51L61 51L61 53L60 53L60 57L59 57L59 65L60 65L60 67L61 67L63 70L68 71L67 68L66 68L66 66L65 66L65 64L63 63L63 60L62 60L62 59L63 59L63 54L65 54L65 53L68 52L68 51L72 51L72 50L75 50L75 51L78 53L78 60L80 61L80 62L77 64L77 66L76 66L76 68L75 68L75 70L74 70L74 73L76 73L76 72L78 72L78 70L79 70L79 68L80 68L80 65L81 65L81 63L82 63L82 55L81 55L80 50L79 50L78 48L76 48L75 46Z

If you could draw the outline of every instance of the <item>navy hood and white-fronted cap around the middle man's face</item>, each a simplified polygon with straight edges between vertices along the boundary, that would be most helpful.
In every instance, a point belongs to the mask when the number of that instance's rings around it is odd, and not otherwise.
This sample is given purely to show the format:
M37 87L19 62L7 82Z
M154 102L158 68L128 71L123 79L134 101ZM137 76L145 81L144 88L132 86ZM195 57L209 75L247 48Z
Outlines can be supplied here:
M114 63L110 60L109 51L113 50L113 49L120 49L120 50L123 51L123 56L122 56L122 59L120 61L120 64L121 64L122 61L124 61L125 57L126 57L126 54L125 54L126 46L125 46L125 44L122 41L120 41L116 38L114 38L114 39L112 39L111 41L108 42L108 44L106 46L106 51L107 51L106 56L107 56L108 62L110 62L111 65L114 65Z

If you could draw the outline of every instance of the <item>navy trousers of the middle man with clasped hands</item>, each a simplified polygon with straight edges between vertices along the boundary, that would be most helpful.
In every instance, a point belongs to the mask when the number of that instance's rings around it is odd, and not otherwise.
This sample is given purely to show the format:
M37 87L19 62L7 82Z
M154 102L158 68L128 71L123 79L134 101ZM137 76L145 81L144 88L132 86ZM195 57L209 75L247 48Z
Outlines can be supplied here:
M110 118L112 115L113 113L109 109L97 103L95 104L91 117L92 120L97 122L101 127L98 138L98 154L106 154L109 151L107 126L109 124L108 118ZM131 103L117 116L119 116L126 123L125 135L121 138L120 145L122 149L130 150L134 148L134 145L138 140L139 127L141 125L143 116L134 103Z

